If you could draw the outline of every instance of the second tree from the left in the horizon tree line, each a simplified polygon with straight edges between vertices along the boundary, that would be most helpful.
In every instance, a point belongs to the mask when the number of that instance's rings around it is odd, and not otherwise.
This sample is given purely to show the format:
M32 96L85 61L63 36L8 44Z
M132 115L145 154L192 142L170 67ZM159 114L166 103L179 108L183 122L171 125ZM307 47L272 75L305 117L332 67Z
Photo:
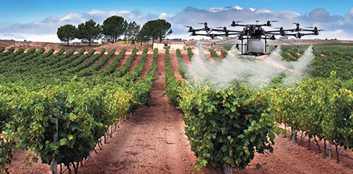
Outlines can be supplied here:
M96 24L93 20L86 21L78 27L77 38L88 41L89 45L100 37L101 28L99 24Z

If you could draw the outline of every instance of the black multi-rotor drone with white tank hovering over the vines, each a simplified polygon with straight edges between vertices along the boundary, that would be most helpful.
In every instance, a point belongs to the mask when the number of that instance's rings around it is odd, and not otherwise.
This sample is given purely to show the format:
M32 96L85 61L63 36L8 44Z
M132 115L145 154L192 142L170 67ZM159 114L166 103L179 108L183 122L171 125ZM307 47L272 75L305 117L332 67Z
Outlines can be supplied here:
M194 29L192 26L185 26L185 27L189 28L187 33L191 33L190 36L207 36L207 37L211 37L211 39L214 39L217 36L228 37L231 35L235 35L237 36L236 38L242 41L241 43L242 55L253 55L253 56L261 56L261 55L267 54L266 53L267 46L269 46L267 42L268 39L286 42L280 39L276 39L275 35L294 36L297 39L301 39L302 36L319 35L319 31L323 31L323 30L319 30L317 27L307 27L310 29L303 29L300 27L299 23L293 23L293 24L296 24L296 28L294 29L283 29L283 27L274 28L276 30L272 30L272 31L265 31L263 29L263 27L272 27L272 23L274 22L278 22L278 21L267 21L264 24L258 24L259 21L256 21L256 24L239 24L239 23L242 23L242 21L232 21L231 24L229 25L229 27L244 27L243 30L228 30L227 27L210 28L208 27L207 22L198 23L198 24L204 25L204 28L202 29ZM198 33L201 31L204 31L206 33L205 34ZM218 32L219 34L215 34L213 32ZM234 38L231 38L231 39L234 39ZM262 42L261 39L264 39L265 42ZM226 41L226 40L230 40L230 39L225 39L223 41ZM223 41L218 41L213 44L223 42ZM286 42L286 43L289 43L289 42ZM291 45L294 45L294 44L291 44ZM237 44L236 47L239 49L239 44Z

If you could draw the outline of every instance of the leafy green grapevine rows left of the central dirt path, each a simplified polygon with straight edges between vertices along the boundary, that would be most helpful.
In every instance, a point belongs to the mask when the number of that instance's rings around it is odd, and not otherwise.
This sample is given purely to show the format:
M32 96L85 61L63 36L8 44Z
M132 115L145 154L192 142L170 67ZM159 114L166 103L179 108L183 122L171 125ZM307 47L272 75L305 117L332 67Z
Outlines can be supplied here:
M157 51L143 78L147 49L134 69L136 49L117 68L125 51L2 50L0 171L7 172L15 149L26 149L43 163L73 165L76 173L79 162L109 135L111 125L148 102ZM37 160L28 157L29 162Z

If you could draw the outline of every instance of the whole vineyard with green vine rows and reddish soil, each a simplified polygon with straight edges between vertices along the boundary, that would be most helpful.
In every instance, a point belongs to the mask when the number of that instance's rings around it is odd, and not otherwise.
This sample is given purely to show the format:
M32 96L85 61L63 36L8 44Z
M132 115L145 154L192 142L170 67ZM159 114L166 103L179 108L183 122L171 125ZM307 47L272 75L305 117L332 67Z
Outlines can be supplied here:
M58 173L320 172L329 149L337 161L353 157L353 55L335 48L283 47L262 58L1 48L0 170L26 173L13 164L22 150L21 162ZM287 130L295 141L315 140L320 153L304 144L302 158L321 155L316 170L276 168L289 160L277 154L291 153ZM343 163L323 171L351 173L353 161Z

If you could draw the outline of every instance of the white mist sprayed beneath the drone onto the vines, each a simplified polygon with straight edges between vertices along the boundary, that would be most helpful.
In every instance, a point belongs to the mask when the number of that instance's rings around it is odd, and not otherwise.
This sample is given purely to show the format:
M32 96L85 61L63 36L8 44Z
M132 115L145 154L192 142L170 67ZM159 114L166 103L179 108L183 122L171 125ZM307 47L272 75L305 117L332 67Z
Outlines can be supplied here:
M282 61L281 49L277 47L270 55L256 59L239 55L235 46L222 61L212 64L203 51L202 45L197 44L190 67L197 74L201 83L211 84L218 89L228 88L234 80L245 81L253 88L263 88L274 77L285 74L285 86L291 86L303 78L305 71L313 60L310 46L296 62ZM217 58L215 58L217 59ZM195 79L195 73L187 72L186 78Z

